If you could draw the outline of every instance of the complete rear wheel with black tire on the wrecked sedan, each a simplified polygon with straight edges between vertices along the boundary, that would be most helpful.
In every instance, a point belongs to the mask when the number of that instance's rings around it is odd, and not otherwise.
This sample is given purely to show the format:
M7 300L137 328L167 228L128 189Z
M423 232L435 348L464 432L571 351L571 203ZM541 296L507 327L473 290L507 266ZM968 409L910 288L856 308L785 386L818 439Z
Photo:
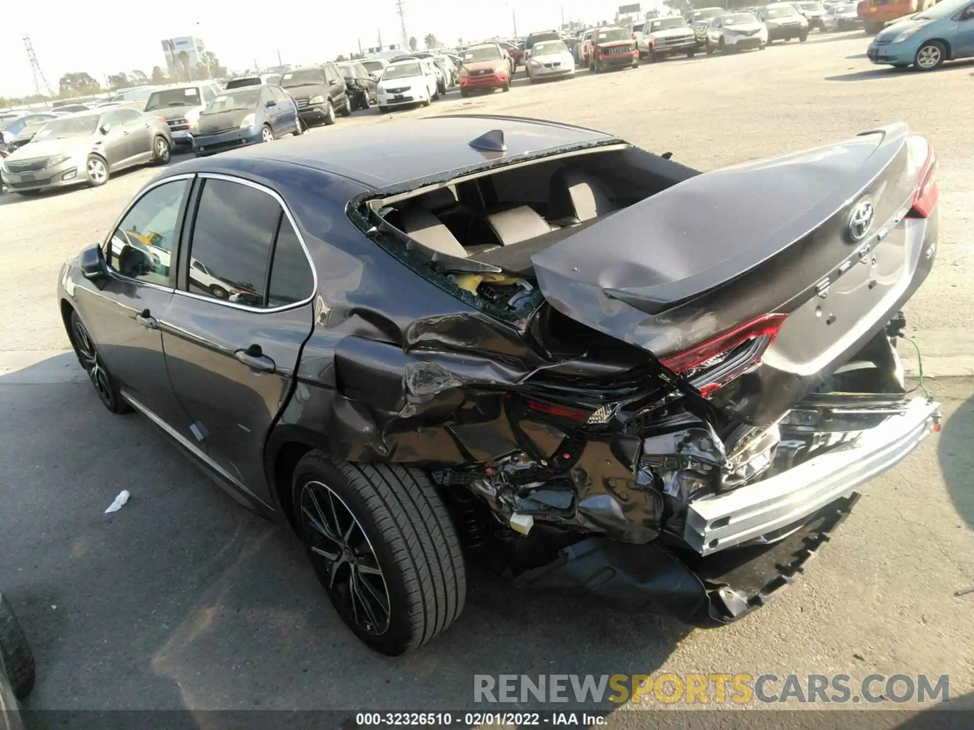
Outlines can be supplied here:
M291 492L295 524L318 579L342 620L369 647L398 656L427 643L460 615L467 598L460 540L424 472L352 464L313 451L295 467ZM324 509L316 501L322 496L332 500ZM316 527L321 519L328 522L325 529ZM328 537L328 529L341 539ZM356 539L356 531L364 539ZM325 557L325 551L335 557ZM357 588L356 580L362 582Z

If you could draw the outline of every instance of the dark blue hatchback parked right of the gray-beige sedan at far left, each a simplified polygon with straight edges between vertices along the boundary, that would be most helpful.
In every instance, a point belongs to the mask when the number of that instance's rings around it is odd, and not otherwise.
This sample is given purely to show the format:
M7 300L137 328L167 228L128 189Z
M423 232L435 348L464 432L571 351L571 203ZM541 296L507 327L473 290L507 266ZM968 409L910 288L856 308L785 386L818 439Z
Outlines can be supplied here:
M192 132L193 151L206 157L302 130L297 104L287 91L270 84L243 87L209 102Z

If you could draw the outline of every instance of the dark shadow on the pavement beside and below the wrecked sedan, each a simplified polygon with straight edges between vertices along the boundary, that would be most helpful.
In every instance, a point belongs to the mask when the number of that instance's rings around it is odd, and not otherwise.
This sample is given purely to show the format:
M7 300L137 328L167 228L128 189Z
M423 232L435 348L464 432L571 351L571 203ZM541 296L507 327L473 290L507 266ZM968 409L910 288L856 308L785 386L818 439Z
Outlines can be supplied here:
M379 656L288 527L105 410L73 354L0 377L0 399L0 576L36 654L31 710L459 710L475 674L651 675L686 634L475 571L446 634Z

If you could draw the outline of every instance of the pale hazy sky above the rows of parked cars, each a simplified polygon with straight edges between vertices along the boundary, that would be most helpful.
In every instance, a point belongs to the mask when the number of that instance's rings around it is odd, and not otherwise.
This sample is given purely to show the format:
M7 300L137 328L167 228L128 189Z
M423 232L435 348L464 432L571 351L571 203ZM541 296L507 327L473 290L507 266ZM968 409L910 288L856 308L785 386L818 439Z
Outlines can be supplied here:
M625 0L403 0L406 30L423 48L423 38L456 44L458 38L481 39L556 27L565 22L613 18ZM244 69L256 58L261 66L300 63L348 55L357 49L398 42L395 0L305 2L189 3L176 6L129 2L52 3L18 6L0 23L0 95L34 91L22 37L27 34L41 70L56 91L69 71L87 71L102 84L104 76L133 68L145 73L166 67L160 41L195 35L230 69ZM647 0L643 8L654 7ZM11 8L8 8L11 10Z

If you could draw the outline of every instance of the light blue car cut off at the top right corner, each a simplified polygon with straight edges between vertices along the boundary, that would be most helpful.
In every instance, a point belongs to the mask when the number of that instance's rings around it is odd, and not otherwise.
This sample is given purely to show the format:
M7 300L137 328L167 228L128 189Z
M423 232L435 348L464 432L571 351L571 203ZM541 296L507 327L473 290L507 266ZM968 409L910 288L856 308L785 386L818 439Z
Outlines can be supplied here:
M974 56L974 2L942 0L883 28L866 54L873 63L913 64L932 71L945 60Z

